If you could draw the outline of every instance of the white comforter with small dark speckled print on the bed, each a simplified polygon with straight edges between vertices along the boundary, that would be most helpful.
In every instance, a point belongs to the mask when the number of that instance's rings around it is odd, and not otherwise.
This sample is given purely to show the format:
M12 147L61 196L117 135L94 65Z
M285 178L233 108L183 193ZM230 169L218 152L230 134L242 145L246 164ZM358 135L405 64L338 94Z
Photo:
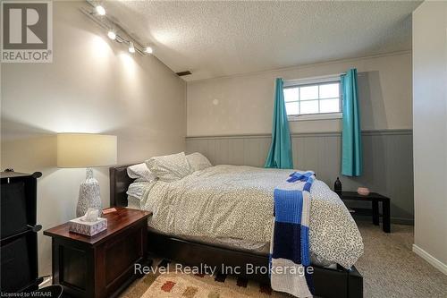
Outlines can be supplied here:
M211 166L179 181L149 183L140 206L166 234L238 238L268 243L274 187L292 170ZM358 227L338 195L316 180L311 189L310 251L350 268L363 253Z

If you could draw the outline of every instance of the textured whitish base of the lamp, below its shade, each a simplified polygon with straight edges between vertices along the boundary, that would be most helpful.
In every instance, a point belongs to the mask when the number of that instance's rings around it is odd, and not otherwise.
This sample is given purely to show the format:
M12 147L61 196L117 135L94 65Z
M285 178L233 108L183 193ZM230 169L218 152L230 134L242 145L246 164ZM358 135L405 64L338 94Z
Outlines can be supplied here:
M76 207L76 217L82 217L87 212L87 209L95 208L101 213L101 196L99 194L99 183L93 177L91 168L86 170L86 180L80 183L80 196L78 199L78 206Z

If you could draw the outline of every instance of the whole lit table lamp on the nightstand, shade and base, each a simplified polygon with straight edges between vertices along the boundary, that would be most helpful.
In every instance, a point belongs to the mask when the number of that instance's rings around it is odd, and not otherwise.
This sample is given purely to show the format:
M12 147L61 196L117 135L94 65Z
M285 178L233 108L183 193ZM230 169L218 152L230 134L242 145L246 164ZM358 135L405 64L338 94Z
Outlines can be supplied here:
M87 209L101 211L99 183L91 167L116 164L116 136L94 133L58 133L57 167L86 167L86 180L80 183L76 216Z

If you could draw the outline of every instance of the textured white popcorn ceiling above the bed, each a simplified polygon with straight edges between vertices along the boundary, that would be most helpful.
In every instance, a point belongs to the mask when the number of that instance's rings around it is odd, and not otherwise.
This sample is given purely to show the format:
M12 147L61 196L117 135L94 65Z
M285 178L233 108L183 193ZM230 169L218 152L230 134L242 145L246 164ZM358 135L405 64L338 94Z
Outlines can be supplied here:
M411 48L420 2L105 2L186 81Z

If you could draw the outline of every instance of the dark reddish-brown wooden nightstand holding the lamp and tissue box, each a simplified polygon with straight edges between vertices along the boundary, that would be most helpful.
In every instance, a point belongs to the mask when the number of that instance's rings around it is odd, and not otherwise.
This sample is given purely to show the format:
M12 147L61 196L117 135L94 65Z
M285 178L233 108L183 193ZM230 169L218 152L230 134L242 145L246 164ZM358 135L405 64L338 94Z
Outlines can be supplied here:
M44 231L52 237L53 284L74 297L114 297L148 265L150 212L116 208L105 214L107 230L92 237L69 232L68 224Z

